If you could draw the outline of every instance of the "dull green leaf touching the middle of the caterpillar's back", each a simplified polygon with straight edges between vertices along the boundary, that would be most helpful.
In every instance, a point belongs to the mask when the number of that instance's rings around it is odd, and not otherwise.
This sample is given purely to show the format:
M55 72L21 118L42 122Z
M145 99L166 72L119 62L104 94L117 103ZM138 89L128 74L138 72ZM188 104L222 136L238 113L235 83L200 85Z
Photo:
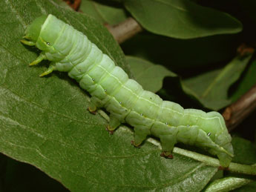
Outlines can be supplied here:
M163 86L165 76L176 77L175 73L166 69L160 64L153 64L144 59L126 56L128 64L131 66L131 72L134 79L142 85L145 90L156 93Z

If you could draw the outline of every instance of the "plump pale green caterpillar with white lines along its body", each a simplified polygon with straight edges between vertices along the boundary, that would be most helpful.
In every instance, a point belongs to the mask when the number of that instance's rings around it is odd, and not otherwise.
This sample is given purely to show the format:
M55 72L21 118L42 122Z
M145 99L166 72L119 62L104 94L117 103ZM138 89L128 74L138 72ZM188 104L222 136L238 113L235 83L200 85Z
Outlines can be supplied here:
M157 94L143 90L129 79L87 36L49 14L35 19L25 30L23 44L42 52L30 65L50 60L47 70L68 72L80 87L91 94L88 107L92 113L105 107L110 113L110 133L126 122L134 127L133 145L138 147L150 135L160 138L161 156L172 158L177 142L208 150L227 168L232 161L232 137L223 116L217 112L183 109L179 104L163 101Z

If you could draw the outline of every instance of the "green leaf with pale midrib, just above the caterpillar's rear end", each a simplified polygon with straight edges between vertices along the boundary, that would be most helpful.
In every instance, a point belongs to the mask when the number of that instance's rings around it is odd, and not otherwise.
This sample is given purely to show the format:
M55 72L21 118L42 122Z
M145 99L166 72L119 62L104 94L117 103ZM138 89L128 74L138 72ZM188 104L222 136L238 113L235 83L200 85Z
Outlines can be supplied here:
M252 54L237 56L226 67L183 80L183 90L194 96L205 107L220 110L232 102L228 98L229 87L239 79Z

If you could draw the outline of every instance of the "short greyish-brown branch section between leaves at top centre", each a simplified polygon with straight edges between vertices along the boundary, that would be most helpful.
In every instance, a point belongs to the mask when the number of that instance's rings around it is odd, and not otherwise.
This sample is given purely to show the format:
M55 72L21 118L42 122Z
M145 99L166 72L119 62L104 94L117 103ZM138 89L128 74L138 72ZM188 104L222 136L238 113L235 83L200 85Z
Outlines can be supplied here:
M135 36L143 30L140 24L131 17L116 26L105 24L105 27L108 28L109 32L114 36L114 39L116 39L119 44L125 42L125 40L130 39L132 36Z

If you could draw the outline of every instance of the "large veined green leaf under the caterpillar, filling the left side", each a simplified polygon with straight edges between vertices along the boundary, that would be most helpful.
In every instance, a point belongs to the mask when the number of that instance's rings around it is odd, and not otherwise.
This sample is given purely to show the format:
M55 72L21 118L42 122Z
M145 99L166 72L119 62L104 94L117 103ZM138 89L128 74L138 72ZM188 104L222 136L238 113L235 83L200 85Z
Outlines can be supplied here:
M109 135L107 121L88 113L87 94L67 74L39 78L46 66L28 67L38 53L19 40L30 21L52 13L125 68L122 51L101 24L52 0L0 5L1 153L36 166L70 191L200 191L209 182L217 168L177 153L173 160L161 158L156 142L134 148L129 128Z

